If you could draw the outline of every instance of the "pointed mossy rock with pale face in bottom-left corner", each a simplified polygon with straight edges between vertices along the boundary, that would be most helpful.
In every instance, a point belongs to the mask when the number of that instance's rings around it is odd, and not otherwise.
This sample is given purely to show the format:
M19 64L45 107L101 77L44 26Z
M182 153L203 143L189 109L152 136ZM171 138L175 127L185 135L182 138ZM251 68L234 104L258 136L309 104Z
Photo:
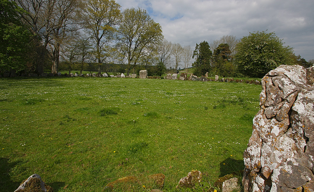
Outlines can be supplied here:
M53 192L53 189L41 180L41 176L37 174L31 175L19 188L14 192Z

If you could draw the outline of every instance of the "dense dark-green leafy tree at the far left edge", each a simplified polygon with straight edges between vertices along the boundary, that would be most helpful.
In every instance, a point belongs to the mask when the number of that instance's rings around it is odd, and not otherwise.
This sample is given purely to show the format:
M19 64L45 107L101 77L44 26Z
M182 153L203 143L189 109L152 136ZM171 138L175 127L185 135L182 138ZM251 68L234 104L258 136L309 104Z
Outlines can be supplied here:
M20 22L25 13L13 1L0 0L0 69L24 70L31 34Z

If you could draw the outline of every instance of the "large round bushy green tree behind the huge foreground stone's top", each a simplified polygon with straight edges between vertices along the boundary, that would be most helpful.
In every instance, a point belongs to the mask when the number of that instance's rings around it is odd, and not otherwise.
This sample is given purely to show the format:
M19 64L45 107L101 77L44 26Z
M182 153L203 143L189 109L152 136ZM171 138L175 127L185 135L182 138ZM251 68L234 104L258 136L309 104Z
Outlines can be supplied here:
M292 63L292 48L284 46L274 32L254 32L236 46L235 61L239 71L249 77L263 77L279 65Z

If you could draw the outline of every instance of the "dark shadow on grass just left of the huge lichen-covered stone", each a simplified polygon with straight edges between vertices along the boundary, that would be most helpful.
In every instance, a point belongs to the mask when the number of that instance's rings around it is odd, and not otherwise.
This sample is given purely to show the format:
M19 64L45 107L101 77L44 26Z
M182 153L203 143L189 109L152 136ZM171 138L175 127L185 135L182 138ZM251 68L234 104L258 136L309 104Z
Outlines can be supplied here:
M244 162L243 160L235 160L230 157L225 159L220 163L220 175L219 177L223 177L228 174L234 174L242 176L244 170Z

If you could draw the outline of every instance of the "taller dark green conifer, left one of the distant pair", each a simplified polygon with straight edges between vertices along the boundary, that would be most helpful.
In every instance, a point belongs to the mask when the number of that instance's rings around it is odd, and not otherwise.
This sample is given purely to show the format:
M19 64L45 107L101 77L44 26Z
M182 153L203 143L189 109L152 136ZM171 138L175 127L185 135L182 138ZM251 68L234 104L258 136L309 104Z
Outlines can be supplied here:
M207 41L201 42L199 45L196 44L192 58L196 57L196 61L192 64L194 69L194 75L201 76L205 75L206 72L211 70L211 58L213 52L210 50Z

